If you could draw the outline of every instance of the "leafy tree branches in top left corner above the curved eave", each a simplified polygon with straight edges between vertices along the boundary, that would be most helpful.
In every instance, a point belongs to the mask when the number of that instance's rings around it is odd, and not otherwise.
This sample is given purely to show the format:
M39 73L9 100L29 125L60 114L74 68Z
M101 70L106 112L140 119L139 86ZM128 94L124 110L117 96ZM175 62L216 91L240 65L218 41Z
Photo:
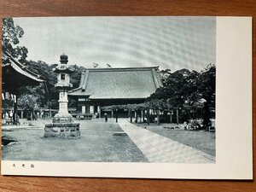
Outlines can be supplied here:
M26 61L27 49L24 46L18 46L19 38L24 34L20 26L15 26L13 18L3 18L3 34L2 34L2 49L8 51L12 56L20 62Z

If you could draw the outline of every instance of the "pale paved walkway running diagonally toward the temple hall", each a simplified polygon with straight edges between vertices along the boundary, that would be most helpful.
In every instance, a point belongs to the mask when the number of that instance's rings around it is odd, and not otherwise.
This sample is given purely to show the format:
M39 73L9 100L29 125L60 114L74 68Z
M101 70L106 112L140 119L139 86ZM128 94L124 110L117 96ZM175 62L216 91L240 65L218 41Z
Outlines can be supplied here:
M215 157L191 148L170 138L162 137L127 120L119 121L120 127L131 140L154 163L215 163Z

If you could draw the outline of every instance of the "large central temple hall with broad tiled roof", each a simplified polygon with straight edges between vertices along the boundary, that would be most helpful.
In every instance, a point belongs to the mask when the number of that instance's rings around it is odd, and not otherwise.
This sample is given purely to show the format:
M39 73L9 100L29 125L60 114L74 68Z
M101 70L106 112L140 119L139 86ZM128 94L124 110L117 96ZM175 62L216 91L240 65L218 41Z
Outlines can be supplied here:
M145 102L146 98L162 86L159 67L88 68L81 74L79 88L70 90L68 96L76 101L75 115L99 115L102 107ZM119 110L119 118L128 112Z

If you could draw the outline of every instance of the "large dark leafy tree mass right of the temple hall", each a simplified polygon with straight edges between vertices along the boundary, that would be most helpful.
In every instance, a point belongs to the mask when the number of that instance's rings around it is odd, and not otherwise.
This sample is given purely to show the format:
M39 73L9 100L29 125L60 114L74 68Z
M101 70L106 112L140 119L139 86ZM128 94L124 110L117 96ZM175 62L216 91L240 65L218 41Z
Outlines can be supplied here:
M188 69L162 70L164 86L158 88L154 94L148 97L148 102L159 100L165 103L164 108L172 113L176 111L176 122L189 119L204 119L204 127L207 129L212 111L215 108L215 80L216 69L213 64L208 65L201 73ZM166 113L164 113L166 115Z

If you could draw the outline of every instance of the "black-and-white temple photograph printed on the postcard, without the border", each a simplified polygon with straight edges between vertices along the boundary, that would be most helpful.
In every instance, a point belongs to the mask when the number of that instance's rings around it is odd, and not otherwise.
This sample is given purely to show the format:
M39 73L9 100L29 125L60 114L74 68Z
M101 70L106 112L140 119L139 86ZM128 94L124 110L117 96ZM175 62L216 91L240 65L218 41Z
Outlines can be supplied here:
M8 17L2 50L2 160L215 163L215 17Z

